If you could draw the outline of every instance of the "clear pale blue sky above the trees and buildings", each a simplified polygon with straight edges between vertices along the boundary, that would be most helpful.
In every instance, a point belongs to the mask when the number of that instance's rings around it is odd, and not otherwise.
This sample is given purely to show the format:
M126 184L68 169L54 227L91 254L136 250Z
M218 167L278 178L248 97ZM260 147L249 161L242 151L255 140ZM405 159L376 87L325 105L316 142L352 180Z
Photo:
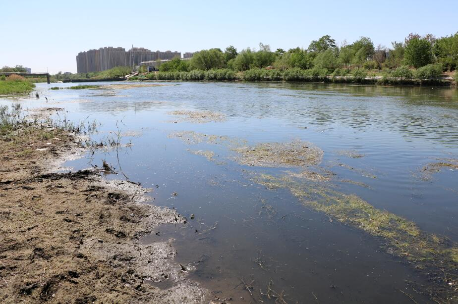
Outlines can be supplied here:
M76 72L79 51L112 46L152 51L308 47L331 35L391 46L410 32L458 31L458 0L143 1L0 0L0 66Z

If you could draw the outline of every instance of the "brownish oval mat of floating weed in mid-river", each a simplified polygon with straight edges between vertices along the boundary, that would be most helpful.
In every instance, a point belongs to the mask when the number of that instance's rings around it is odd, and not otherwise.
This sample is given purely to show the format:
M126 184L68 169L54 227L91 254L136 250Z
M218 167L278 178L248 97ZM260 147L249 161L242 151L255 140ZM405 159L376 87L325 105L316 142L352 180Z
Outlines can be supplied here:
M311 143L295 140L289 143L261 143L254 147L233 149L235 161L259 167L311 166L321 162L323 151Z

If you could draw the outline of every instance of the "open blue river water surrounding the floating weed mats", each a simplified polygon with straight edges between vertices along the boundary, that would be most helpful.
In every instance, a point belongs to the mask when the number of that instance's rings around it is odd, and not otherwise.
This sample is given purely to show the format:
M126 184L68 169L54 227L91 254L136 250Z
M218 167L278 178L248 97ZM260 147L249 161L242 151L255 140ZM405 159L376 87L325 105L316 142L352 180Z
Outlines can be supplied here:
M106 96L100 90L51 91L56 84L37 84L49 102L20 102L24 108L63 107L68 112L59 117L73 121L96 119L102 124L93 136L96 141L120 128L121 142L131 142L130 147L119 148L117 155L113 149L96 150L65 165L82 169L105 159L130 180L152 188L153 204L186 216L186 224L160 226L159 235L142 241L174 239L176 260L215 296L232 297L233 303L274 303L260 294L267 294L272 284L272 290L287 294L286 303L412 303L406 294L429 303L408 284L427 284L427 276L387 253L382 239L307 208L287 189L267 189L253 179L297 168L242 165L233 160L228 145L188 144L170 134L194 131L250 145L311 142L324 152L314 169L332 173L330 181L315 181L311 187L354 194L426 233L458 242L458 170L424 170L430 163L458 159L458 90L160 84L165 86L110 90L113 94ZM183 122L169 113L174 110L218 112L227 119ZM196 151L214 156L209 161ZM241 280L247 285L254 280L252 296Z

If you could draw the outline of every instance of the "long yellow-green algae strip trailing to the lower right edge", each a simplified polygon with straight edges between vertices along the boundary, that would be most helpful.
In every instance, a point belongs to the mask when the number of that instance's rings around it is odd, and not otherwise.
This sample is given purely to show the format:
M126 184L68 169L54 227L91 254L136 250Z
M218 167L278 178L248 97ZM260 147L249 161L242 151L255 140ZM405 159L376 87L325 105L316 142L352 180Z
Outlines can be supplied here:
M311 186L289 176L268 174L258 175L253 180L269 189L286 188L308 208L380 237L387 253L401 257L415 269L428 274L431 285L423 288L433 300L440 301L438 303L457 300L458 246L449 239L425 233L414 222L331 187Z

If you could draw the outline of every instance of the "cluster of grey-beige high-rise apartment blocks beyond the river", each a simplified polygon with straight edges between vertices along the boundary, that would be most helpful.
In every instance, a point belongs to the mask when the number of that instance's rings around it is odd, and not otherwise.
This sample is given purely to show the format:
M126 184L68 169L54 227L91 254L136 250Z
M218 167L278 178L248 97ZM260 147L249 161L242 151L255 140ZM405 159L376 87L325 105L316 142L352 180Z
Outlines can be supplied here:
M185 59L192 57L193 52L184 53ZM100 72L116 66L131 66L132 68L145 61L171 60L181 58L178 51L150 51L145 48L105 47L98 50L79 52L76 56L76 70L78 73Z

